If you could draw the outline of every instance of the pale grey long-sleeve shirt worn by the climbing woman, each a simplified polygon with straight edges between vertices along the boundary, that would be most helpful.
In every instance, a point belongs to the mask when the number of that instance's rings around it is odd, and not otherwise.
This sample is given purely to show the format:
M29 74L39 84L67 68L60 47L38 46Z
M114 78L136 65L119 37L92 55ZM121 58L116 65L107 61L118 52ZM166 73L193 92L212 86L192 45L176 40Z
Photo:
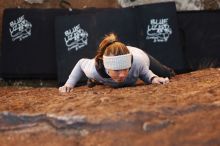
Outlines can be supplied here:
M123 83L116 83L111 78L103 78L95 68L95 59L80 59L73 68L66 84L75 86L81 76L85 74L88 78L94 79L104 85L112 87L133 86L138 78L145 83L150 83L152 77L156 76L150 69L150 60L147 54L135 47L127 46L133 56L133 62L128 76Z

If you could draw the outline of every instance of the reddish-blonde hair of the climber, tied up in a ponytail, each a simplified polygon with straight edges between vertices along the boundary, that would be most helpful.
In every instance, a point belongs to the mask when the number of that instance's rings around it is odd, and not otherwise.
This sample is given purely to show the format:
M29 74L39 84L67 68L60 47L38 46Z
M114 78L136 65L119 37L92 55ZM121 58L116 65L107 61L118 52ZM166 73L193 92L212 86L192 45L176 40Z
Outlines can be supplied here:
M104 39L99 44L99 48L96 54L96 61L105 56L118 56L129 54L129 50L125 44L121 43L117 39L117 35L110 33L104 37Z

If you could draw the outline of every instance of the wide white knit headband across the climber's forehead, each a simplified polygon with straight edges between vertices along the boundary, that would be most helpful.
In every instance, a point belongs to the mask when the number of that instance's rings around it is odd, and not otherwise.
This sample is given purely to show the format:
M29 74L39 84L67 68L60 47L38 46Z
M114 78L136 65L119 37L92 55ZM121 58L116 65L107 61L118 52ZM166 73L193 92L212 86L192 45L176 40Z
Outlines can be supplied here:
M131 67L131 53L118 56L103 56L103 63L106 69L122 70Z

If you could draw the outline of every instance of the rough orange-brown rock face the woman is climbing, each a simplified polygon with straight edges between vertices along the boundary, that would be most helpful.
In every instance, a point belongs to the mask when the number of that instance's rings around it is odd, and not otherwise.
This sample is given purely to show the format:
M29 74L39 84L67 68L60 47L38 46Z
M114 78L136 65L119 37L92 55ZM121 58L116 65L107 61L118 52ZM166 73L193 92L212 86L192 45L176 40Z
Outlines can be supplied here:
M166 85L0 87L1 146L219 146L220 69Z

